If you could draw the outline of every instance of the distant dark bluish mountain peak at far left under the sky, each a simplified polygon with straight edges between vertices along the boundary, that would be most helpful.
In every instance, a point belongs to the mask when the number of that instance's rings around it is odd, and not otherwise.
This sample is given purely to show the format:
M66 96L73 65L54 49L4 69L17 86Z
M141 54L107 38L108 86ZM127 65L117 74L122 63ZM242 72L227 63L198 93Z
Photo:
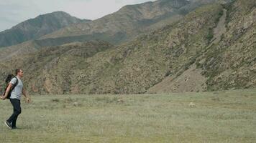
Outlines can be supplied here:
M77 19L63 11L37 16L0 33L0 47L11 46L30 39L50 34L70 24L78 24L88 20Z

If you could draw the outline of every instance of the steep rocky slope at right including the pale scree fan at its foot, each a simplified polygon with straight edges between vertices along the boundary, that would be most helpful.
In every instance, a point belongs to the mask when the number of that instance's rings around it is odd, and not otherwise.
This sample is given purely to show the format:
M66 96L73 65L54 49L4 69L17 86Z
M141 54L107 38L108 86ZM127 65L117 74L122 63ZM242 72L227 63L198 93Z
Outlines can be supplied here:
M223 17L203 52L183 73L167 77L149 92L199 92L256 87L255 1L224 6Z

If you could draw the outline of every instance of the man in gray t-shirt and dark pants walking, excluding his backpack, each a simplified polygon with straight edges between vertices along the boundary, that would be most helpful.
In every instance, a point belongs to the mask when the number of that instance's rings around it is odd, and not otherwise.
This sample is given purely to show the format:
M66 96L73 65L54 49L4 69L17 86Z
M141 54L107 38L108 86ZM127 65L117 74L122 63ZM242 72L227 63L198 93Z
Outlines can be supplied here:
M12 90L11 97L10 97L10 102L12 103L12 106L14 107L14 112L13 112L12 116L9 117L9 119L7 119L6 122L4 122L4 124L6 124L6 127L8 127L9 129L17 129L16 121L17 121L19 114L21 114L21 112L22 112L22 109L20 107L20 99L22 97L22 94L26 98L26 102L30 102L30 99L29 99L29 97L27 97L27 94L25 93L25 90L24 90L23 84L22 84L23 70L16 69L15 74L16 74L16 77L14 77L11 80L11 82L9 83L4 96L0 97L0 99L5 100L9 94L10 90L12 89L12 87L15 84L17 84L17 86L14 87L14 89Z

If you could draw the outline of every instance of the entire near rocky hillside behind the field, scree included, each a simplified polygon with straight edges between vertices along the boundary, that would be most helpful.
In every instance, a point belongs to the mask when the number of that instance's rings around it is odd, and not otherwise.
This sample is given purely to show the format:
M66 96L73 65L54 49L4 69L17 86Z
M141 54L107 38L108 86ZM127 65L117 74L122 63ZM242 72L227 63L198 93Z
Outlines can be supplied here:
M119 46L87 41L0 61L31 94L138 94L256 87L256 1L201 6ZM4 77L1 77L4 81Z

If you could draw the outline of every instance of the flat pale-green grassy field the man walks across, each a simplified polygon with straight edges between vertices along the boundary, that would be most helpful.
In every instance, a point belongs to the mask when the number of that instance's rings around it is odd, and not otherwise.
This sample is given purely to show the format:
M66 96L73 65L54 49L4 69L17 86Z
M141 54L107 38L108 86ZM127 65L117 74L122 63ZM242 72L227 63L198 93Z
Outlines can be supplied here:
M195 106L189 104L193 102ZM55 95L0 101L0 142L255 142L256 89L186 94Z

